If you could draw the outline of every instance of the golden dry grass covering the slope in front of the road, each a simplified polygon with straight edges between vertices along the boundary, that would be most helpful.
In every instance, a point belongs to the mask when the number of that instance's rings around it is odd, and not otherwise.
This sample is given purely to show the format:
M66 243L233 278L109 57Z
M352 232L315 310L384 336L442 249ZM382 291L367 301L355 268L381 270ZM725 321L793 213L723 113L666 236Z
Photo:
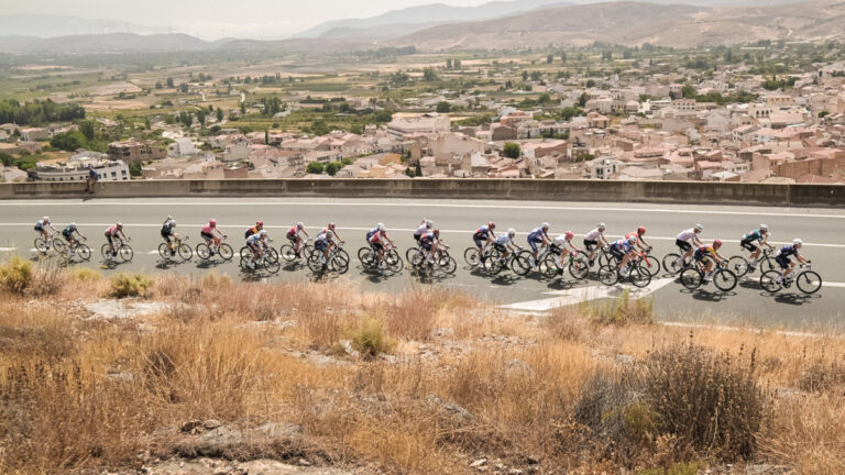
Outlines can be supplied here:
M290 422L307 438L226 453L319 453L386 473L472 473L480 457L526 472L688 473L689 461L743 460L845 471L835 336L596 322L578 308L537 320L450 290L361 295L216 275L156 277L142 295L163 311L102 322L72 302L102 298L110 280L50 280L37 301L14 286L0 296L0 473L188 456L197 451L161 433L207 419ZM364 355L339 356L341 340Z

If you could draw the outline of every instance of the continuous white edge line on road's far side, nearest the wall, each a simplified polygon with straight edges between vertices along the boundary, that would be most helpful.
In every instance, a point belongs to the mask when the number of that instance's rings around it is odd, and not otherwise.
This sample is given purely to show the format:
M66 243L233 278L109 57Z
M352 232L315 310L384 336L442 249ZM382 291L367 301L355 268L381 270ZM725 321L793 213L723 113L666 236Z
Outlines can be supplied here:
M376 207L376 208L467 208L467 209L515 209L515 210L538 210L538 211L623 211L623 212L650 212L669 214L726 214L726 216L756 216L756 217L783 217L783 218L831 218L845 219L845 214L813 214L813 213L791 213L791 212L758 212L758 211L707 211L707 210L673 210L666 208L612 208L612 207L562 207L562 206L517 206L517 205L448 205L437 202L409 202L409 203L372 203L372 202L309 202L309 201L250 201L250 207ZM85 202L13 202L0 201L0 207L44 207L44 206L144 206L144 207L221 207L237 206L242 207L244 202L232 201L207 201L207 202L162 202L162 201L85 201Z

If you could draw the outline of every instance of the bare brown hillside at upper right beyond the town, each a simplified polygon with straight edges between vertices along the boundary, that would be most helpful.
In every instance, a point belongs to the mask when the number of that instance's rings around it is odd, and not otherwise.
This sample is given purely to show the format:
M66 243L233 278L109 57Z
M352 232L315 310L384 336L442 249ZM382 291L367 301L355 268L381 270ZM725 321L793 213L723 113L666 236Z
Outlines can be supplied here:
M595 41L683 47L757 40L826 38L841 36L843 31L845 4L832 1L715 9L605 2L438 25L395 43L414 44L421 49L537 47L549 43L584 45Z

